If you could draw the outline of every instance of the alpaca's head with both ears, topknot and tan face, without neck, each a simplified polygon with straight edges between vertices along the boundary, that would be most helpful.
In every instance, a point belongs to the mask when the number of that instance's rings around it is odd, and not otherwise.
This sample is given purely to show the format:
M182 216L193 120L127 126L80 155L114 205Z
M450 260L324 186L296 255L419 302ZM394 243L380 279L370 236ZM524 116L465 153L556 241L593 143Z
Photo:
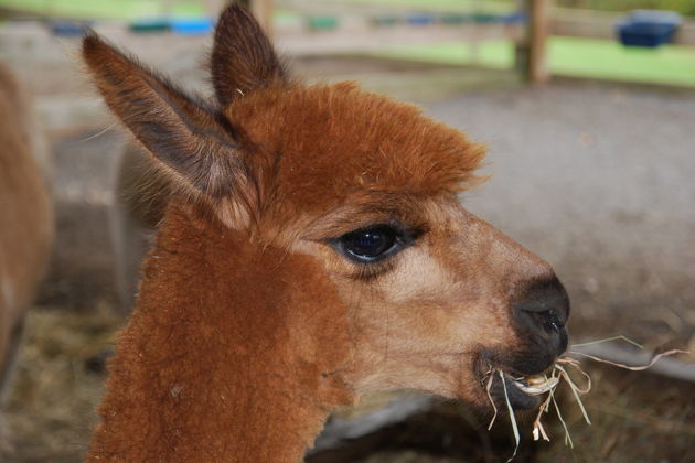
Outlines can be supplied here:
M457 200L483 158L462 133L352 83L291 80L235 6L215 33L213 103L97 36L83 53L110 109L192 205L249 246L318 263L346 308L341 375L355 392L484 406L491 369L538 374L565 349L568 301L550 267ZM511 389L516 407L536 403Z

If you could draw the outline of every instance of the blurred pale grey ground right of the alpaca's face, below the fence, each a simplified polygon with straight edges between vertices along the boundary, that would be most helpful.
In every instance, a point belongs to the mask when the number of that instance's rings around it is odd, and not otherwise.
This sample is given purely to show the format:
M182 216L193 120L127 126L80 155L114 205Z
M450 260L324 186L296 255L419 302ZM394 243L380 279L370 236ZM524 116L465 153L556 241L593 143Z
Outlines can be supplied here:
M463 201L556 266L584 336L693 338L695 95L556 84L426 108L490 143L494 176Z

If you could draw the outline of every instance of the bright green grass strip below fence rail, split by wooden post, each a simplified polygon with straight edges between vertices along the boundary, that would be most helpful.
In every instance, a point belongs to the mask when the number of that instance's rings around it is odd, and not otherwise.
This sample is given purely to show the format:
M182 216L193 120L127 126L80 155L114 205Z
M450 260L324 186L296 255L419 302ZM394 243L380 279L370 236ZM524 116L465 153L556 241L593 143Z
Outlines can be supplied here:
M555 36L548 52L549 68L556 75L695 86L693 47L634 49L608 40ZM494 68L511 68L514 63L513 45L506 41L483 42L477 52L471 44L445 43L398 47L379 55Z

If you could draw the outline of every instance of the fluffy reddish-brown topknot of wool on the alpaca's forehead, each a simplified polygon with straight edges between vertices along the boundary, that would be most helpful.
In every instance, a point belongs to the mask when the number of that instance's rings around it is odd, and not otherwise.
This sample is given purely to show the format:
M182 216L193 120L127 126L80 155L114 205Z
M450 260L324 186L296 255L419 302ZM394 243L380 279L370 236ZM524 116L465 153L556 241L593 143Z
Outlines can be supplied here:
M259 89L239 95L225 112L255 144L279 157L274 183L279 190L292 185L300 201L345 197L355 187L453 193L477 180L473 171L485 153L417 107L351 82Z

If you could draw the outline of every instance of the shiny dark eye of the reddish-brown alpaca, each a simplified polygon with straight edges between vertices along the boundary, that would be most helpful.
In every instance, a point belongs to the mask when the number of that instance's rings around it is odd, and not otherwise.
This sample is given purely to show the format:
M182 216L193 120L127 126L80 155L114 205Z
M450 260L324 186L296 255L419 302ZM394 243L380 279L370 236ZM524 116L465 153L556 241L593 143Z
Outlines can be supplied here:
M338 238L336 247L357 262L374 262L399 250L402 234L388 225L351 232Z

